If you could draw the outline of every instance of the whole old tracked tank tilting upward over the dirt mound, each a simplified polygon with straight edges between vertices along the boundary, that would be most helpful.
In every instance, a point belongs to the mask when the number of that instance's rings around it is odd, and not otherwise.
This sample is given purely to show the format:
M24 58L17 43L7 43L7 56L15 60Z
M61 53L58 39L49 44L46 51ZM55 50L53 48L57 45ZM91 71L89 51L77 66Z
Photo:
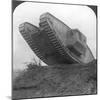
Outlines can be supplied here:
M25 22L19 25L19 31L35 54L48 65L87 64L94 59L86 37L50 13L40 16L39 27Z

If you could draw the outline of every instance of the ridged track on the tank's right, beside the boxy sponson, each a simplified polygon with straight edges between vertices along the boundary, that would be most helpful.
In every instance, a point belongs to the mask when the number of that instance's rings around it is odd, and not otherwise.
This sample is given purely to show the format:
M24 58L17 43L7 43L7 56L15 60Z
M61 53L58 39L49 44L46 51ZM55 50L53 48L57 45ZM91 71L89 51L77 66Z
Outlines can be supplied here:
M71 58L71 62L72 63L80 63L78 60L76 60L73 57L70 57L68 55L68 50L66 48L64 48L64 46L62 45L62 43L60 42L60 40L56 37L54 31L51 29L50 25L49 25L49 21L47 18L40 18L40 28L42 30L45 31L45 33L48 35L50 41L53 43L54 47L56 48L56 50L64 57L66 58L66 62L67 60L69 60Z

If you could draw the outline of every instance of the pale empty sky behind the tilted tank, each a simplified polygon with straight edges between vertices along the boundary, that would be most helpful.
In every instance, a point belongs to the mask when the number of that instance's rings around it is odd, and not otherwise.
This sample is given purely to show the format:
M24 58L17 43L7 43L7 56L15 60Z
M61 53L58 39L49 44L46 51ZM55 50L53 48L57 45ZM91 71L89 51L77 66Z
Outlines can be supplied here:
M86 37L87 44L96 58L96 16L87 6L25 2L13 13L13 68L24 69L25 63L38 60L21 36L18 27L23 22L39 26L41 14L49 12L70 28L78 28ZM42 65L45 65L42 63Z

